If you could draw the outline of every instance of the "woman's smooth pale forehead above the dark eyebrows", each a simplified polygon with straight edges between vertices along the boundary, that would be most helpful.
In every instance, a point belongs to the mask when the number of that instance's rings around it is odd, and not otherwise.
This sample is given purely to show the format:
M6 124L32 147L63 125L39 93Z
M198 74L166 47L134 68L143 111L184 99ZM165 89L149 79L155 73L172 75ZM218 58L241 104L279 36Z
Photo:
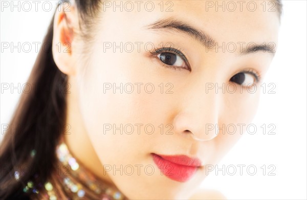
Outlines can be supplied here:
M102 21L118 30L138 32L158 20L178 19L217 42L277 42L275 1L119 1L106 2Z

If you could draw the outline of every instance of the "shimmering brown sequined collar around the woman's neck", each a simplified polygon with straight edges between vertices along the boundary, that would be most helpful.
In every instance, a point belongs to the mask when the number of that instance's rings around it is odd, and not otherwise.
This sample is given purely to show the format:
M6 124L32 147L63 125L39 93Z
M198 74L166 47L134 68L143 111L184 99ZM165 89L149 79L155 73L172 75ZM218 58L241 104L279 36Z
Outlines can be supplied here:
M24 188L24 192L31 193L31 199L127 199L118 189L80 165L63 141L57 145L56 154L58 171L45 184L35 186L29 181ZM15 179L16 176L18 174Z

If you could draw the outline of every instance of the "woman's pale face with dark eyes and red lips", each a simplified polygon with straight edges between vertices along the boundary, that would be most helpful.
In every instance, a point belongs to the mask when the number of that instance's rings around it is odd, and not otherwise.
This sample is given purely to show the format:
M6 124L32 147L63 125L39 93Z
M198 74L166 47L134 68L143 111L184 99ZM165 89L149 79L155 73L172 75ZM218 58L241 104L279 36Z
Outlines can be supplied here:
M233 12L224 1L225 11L215 1L130 3L106 2L90 53L78 50L89 54L77 62L84 126L129 198L188 198L255 115L279 14L258 1L233 2Z

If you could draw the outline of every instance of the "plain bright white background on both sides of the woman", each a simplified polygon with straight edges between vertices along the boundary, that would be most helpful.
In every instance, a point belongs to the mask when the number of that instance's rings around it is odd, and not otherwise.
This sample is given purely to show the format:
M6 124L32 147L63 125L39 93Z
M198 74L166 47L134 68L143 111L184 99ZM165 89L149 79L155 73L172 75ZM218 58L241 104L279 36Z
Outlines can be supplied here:
M53 2L55 7L57 1ZM243 175L239 168L235 175L223 171L213 172L202 187L217 189L229 199L307 199L306 194L306 1L283 1L279 47L266 83L274 83L275 94L262 94L258 113L254 119L257 132L246 134L218 164L245 165ZM2 8L1 42L42 42L54 9L46 12L38 6L38 12ZM45 10L48 5L45 5ZM34 47L34 46L32 46ZM1 53L1 83L27 82L37 53ZM268 89L271 87L267 87ZM1 93L1 124L9 123L19 95L14 90ZM276 126L275 135L262 134L261 125ZM1 137L3 137L1 129ZM253 165L257 172L249 175L247 166ZM262 166L266 166L265 175ZM272 173L268 175L275 166ZM261 168L262 167L262 168ZM228 168L229 173L233 168ZM215 175L218 172L218 175ZM226 171L227 172L227 171ZM252 168L249 171L253 172Z

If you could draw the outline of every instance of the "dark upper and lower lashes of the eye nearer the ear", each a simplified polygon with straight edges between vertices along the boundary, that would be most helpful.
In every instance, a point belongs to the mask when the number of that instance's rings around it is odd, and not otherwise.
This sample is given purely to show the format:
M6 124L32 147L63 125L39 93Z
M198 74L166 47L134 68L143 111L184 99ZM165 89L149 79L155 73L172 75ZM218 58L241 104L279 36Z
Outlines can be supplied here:
M180 48L171 48L171 47L165 47L162 45L161 48L155 48L153 49L153 51L151 51L150 53L154 56L157 56L158 54L161 54L161 53L173 53L173 54L176 54L178 56L180 56L186 63L186 65L188 66L188 69L189 71L191 71L191 67L189 65L189 60L187 59L187 57L182 53L183 50L181 50ZM162 61L161 61L162 62ZM171 68L171 69L174 69L174 70L182 70L182 68L178 68L177 66L173 66L173 65L168 65L168 64L165 64L162 62L162 65L165 67L165 68Z

